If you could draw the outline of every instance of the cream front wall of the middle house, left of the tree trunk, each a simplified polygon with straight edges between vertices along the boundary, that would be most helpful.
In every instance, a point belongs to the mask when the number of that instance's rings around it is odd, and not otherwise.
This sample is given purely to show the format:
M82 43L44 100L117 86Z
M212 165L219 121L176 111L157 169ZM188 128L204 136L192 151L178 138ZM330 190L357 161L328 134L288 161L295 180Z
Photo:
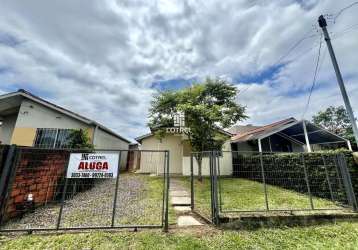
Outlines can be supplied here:
M169 150L169 169L171 174L182 174L183 143L181 135L166 135L162 140L150 136L142 140L142 150ZM164 152L141 152L141 173L162 174Z

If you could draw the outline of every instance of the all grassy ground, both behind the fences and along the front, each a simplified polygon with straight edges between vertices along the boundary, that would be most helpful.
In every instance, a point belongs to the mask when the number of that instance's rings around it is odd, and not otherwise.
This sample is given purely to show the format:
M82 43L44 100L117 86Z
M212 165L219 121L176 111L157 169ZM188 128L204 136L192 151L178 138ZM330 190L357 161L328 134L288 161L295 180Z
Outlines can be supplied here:
M190 190L188 178L177 178ZM117 224L157 224L161 222L163 177L123 174L118 191ZM108 225L110 222L113 181L103 181L93 189L68 200L62 226ZM262 184L244 179L223 179L223 209L261 208ZM210 184L195 182L196 206L210 210ZM308 197L290 190L268 186L271 206L306 207ZM271 195L270 195L271 194ZM336 206L314 198L314 204ZM26 223L53 225L58 207L43 207L7 227ZM52 217L49 214L53 215ZM84 214L84 215L83 215ZM49 219L51 218L51 219ZM175 216L170 209L170 220ZM178 228L169 233L161 229L93 231L0 236L0 249L357 249L358 222L339 222L309 227L277 227L258 230L224 230L210 225Z

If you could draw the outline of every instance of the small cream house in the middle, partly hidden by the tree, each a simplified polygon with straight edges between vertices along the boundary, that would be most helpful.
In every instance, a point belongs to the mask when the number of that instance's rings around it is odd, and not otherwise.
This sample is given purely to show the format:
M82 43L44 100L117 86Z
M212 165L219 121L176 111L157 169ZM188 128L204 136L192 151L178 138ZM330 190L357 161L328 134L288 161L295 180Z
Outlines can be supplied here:
M220 130L221 133L225 134L230 138L232 134L224 130ZM169 150L169 172L170 174L178 175L190 175L190 155L192 153L191 146L187 136L184 133L166 133L164 138L158 139L153 133L149 133L140 137L136 140L141 144L141 150ZM223 150L230 149L230 139L228 139L224 145ZM137 167L140 173L151 173L151 174L163 174L164 165L164 153L160 152L141 152L139 167ZM231 174L231 157L222 157L222 173L229 171ZM203 159L203 175L208 175L209 164L208 158ZM227 166L226 168L224 167ZM194 160L194 168L196 167L196 161Z

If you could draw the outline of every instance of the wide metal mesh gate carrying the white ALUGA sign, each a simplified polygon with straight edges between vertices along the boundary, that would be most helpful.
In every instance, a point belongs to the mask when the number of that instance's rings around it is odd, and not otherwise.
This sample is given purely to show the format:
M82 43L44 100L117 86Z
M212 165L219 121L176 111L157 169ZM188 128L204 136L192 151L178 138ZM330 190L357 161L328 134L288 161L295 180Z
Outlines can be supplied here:
M11 150L11 152L10 152ZM168 230L168 151L65 150L11 146L0 232L120 228ZM116 178L67 178L71 153L118 155ZM136 172L156 159L160 174ZM4 171L3 171L4 172Z

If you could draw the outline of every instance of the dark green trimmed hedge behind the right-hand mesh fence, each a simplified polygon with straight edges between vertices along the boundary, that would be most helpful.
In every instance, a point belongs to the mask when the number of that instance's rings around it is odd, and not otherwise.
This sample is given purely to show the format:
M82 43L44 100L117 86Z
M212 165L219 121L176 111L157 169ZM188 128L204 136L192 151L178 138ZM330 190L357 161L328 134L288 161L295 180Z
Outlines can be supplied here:
M347 204L338 164L339 157L343 157L347 162L353 190L358 200L358 166L352 152L346 150L263 154L265 182L308 194L307 178L312 195ZM233 176L262 182L260 155L235 155Z

